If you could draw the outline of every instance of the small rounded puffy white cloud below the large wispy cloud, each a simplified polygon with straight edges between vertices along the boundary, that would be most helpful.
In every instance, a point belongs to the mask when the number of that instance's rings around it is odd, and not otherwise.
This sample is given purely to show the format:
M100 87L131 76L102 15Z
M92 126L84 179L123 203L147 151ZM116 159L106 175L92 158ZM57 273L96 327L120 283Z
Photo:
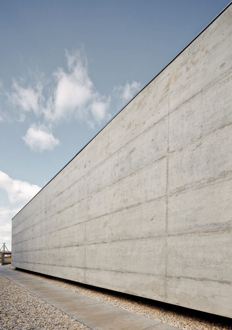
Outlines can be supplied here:
M28 128L26 135L22 139L33 151L53 150L59 145L59 140L47 130L45 126L31 125Z

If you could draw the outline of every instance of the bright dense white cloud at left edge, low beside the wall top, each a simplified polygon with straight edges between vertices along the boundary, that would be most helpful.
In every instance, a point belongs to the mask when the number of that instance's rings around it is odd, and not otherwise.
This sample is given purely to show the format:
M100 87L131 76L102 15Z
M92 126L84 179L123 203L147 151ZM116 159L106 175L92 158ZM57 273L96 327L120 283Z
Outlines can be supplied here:
M36 184L14 180L2 171L0 171L0 188L7 192L11 204L19 202L28 203L41 190Z

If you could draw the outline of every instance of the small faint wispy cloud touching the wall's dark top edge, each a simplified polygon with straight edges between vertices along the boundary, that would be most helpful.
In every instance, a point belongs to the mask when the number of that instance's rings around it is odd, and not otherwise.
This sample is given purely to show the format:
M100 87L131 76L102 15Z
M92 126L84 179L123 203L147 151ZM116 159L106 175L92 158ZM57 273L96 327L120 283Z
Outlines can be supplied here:
M124 107L141 89L141 82L127 81L124 86L114 87L114 95L118 98L118 107Z

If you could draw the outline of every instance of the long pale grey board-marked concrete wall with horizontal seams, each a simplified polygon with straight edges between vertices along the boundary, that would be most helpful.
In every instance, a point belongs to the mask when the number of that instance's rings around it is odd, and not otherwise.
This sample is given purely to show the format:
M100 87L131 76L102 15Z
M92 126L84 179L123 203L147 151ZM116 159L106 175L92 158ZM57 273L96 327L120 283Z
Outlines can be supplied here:
M231 15L13 218L15 267L232 317Z

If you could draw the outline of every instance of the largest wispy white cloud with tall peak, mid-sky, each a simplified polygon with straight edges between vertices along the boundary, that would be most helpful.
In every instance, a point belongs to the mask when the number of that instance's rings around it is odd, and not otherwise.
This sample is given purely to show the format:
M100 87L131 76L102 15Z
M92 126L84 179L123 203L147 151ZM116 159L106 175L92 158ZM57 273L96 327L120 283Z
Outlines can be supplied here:
M94 121L99 123L107 116L109 98L96 91L83 54L66 51L66 57L68 72L59 68L53 74L56 86L44 108L45 119L59 121L75 116L91 125Z

